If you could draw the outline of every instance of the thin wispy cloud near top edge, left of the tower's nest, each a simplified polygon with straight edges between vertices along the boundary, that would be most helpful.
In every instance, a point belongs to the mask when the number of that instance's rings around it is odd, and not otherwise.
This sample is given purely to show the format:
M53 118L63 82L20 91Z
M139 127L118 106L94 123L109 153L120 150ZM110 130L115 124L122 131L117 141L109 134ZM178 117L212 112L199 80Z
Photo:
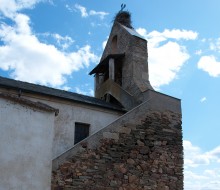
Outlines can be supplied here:
M71 10L70 6L66 5L66 8L68 10ZM109 13L107 12L104 12L104 11L95 11L95 10L90 10L90 11L87 11L86 10L86 7L83 7L82 5L79 5L79 4L75 4L75 8L80 11L81 13L81 16L86 18L88 16L98 16L100 19L104 19L105 16L107 16Z

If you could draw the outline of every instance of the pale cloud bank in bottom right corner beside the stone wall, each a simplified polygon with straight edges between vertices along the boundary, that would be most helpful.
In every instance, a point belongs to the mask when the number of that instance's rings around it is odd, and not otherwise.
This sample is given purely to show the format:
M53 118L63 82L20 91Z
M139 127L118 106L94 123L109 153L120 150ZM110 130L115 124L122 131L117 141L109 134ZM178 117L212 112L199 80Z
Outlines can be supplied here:
M218 190L220 189L220 146L203 152L190 141L184 145L184 189Z

